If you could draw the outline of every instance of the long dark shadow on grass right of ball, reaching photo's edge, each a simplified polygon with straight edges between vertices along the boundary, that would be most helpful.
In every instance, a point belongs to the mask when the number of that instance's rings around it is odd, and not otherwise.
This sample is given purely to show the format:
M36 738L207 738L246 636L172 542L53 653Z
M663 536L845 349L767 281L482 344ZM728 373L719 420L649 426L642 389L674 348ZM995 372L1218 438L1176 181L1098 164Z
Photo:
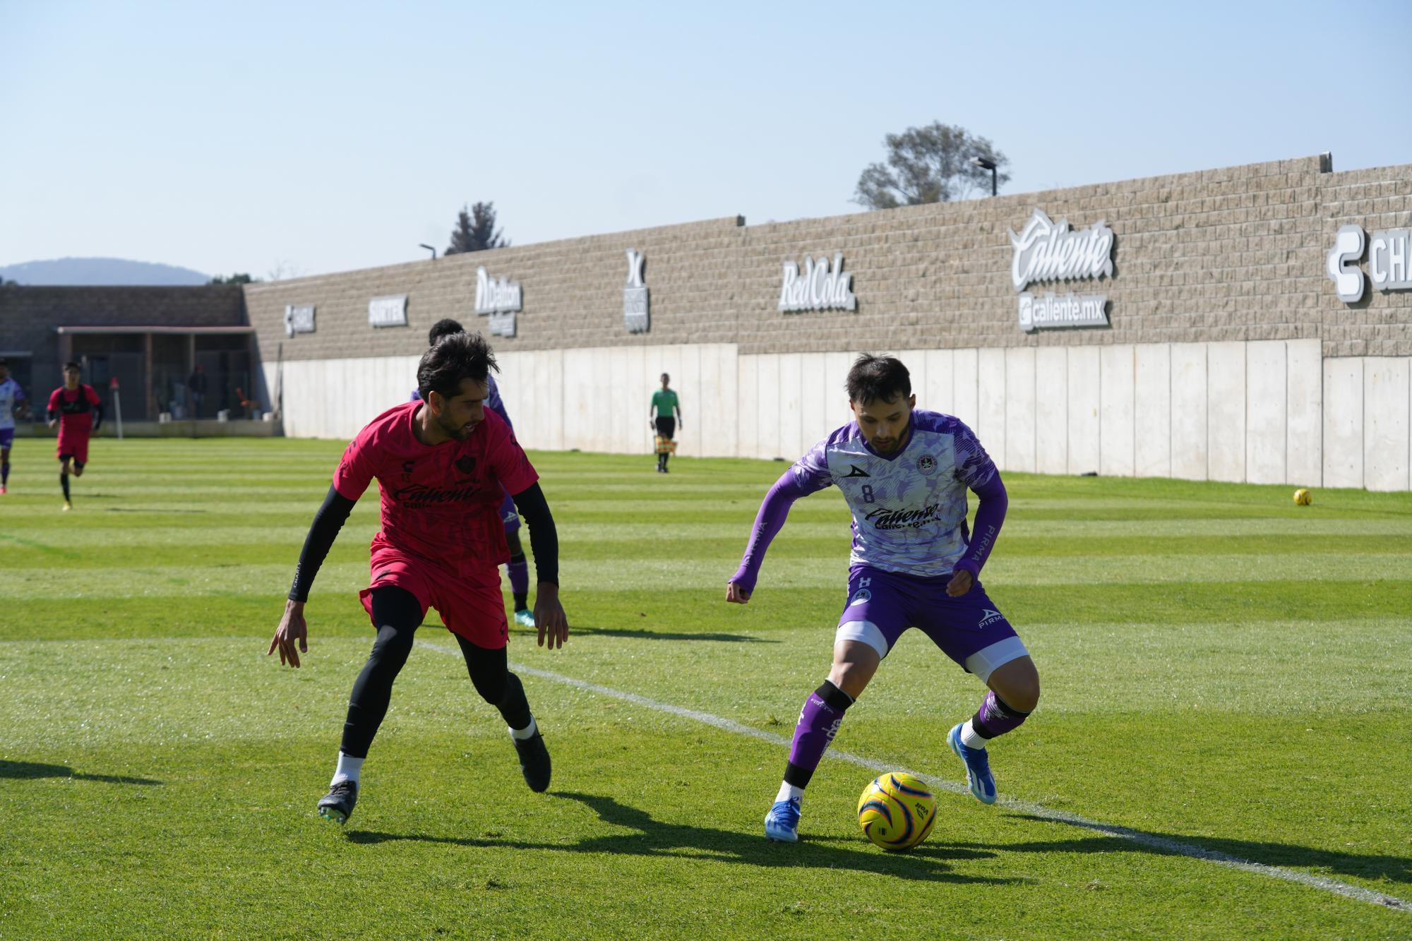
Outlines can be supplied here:
M1053 824L1055 821L1045 817L1032 817L1029 814L1017 814L1019 819L1029 819L1035 822ZM1313 868L1315 875L1326 875L1326 872L1336 872L1344 876L1361 876L1363 879L1387 879L1389 882L1399 882L1402 884L1412 884L1412 856L1382 856L1382 855L1360 855L1360 853L1341 853L1329 849L1315 849L1313 846L1299 846L1295 844L1265 844L1247 839L1221 839L1211 836L1182 836L1179 834L1158 834L1145 829L1131 829L1138 836L1149 836L1154 841L1166 841L1172 844L1182 844L1183 846L1193 846L1196 849L1204 849L1213 856L1221 855L1241 862L1262 863L1265 866L1282 866L1286 869L1299 868ZM1175 848L1163 848L1161 845L1139 844L1135 839L1123 839L1114 836L1086 836L1082 839L1069 841L1035 841L1025 844L1008 844L1004 846L993 846L991 849L998 851L1014 851L1014 852L1067 852L1067 853L1111 853L1111 852L1130 852L1130 853L1154 853L1158 856L1190 856L1190 853L1183 853Z

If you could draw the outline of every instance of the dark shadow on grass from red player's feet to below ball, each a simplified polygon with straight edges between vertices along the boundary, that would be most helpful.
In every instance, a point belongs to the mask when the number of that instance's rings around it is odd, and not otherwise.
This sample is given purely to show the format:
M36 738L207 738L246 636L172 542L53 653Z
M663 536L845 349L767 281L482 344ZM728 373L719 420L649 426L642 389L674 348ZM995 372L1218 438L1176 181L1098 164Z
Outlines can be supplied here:
M946 859L974 859L994 855L990 849L923 846L909 853L884 853L858 841L850 848L830 845L834 841L810 841L794 845L771 844L758 832L743 834L713 827L665 824L652 819L647 811L628 807L599 794L554 793L552 797L579 801L606 824L631 829L630 834L590 836L576 844L531 844L514 839L476 839L466 836L431 836L425 834L380 834L352 831L354 844L384 844L398 839L456 846L484 846L515 849L551 849L572 853L617 853L628 856L665 856L681 859L714 859L717 862L748 863L751 866L789 866L813 869L851 869L880 876L897 876L922 882L952 882L973 884L1014 884L1015 879L962 876L952 872Z

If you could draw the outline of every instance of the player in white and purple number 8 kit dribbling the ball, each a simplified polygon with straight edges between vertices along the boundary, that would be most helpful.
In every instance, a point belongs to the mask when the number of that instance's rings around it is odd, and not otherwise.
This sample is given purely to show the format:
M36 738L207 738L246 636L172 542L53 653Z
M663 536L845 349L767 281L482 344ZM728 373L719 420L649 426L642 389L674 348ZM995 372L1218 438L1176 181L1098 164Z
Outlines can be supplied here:
M805 699L784 783L765 836L799 839L803 788L843 714L867 688L902 632L919 627L942 653L990 687L970 719L946 736L984 804L995 803L986 746L1039 702L1039 674L1015 629L979 581L1005 520L1005 486L974 432L959 418L915 411L912 380L891 356L860 356L847 379L854 421L837 428L765 495L726 600L750 602L770 541L789 506L836 485L853 511L849 596L833 640L829 678ZM976 531L966 490L976 492Z

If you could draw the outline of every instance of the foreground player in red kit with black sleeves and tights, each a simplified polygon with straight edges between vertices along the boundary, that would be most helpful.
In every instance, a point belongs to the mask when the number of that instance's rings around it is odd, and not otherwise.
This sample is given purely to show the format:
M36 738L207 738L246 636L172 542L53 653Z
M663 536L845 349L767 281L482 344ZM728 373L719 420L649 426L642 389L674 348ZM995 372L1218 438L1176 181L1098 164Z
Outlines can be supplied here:
M309 585L353 503L377 479L383 528L373 537L371 579L360 593L377 640L353 684L337 767L318 804L319 814L335 822L353 812L363 759L428 608L441 613L460 644L476 692L510 726L525 783L535 791L549 787L549 752L524 685L505 660L504 490L514 495L530 526L539 578L535 625L539 646L548 641L551 650L569 634L559 603L559 543L535 469L508 425L486 408L491 369L498 369L496 357L479 333L453 333L426 350L417 367L424 401L388 408L349 444L304 543L267 651L278 650L280 661L292 667L309 649L304 620Z

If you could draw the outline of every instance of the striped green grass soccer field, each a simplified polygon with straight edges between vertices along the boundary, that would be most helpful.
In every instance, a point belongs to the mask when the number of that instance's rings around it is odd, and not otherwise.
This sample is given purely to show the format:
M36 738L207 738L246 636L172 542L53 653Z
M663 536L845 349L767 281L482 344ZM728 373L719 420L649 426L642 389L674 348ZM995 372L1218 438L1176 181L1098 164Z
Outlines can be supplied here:
M888 855L825 760L805 842L768 844L770 740L525 673L554 753L525 788L435 616L345 829L321 821L349 688L369 495L319 575L299 671L264 656L342 446L93 444L59 511L42 442L0 497L0 937L1406 938L1412 497L1011 473L986 585L1039 665L956 791L981 687L918 632L836 749L938 784ZM847 511L795 506L748 608L723 602L784 465L532 455L572 636L511 661L789 736L827 671ZM1053 819L1072 814L1139 842ZM1319 884L1185 849L1320 876ZM1339 894L1329 886L1363 890Z

